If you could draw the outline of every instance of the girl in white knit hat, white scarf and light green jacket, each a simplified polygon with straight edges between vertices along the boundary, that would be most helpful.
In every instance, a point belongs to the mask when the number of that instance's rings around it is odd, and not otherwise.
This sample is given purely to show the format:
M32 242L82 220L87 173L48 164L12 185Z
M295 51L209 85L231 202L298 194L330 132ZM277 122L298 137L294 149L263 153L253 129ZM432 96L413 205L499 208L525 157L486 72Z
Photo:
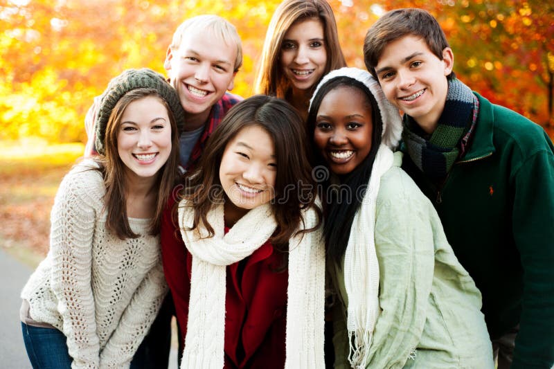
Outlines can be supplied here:
M378 82L361 69L332 71L307 127L339 297L335 368L493 368L481 294L400 169L402 154L391 150L400 116Z

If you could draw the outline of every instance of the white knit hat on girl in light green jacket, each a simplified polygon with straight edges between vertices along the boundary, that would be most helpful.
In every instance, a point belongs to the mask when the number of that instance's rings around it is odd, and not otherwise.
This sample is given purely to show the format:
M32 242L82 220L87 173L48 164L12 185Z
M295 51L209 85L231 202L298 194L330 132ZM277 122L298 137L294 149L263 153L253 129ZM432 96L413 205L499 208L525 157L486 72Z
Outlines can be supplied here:
M324 84L330 82L330 80L334 80L334 78L338 77L348 77L357 80L363 83L369 89L370 93L373 93L375 100L377 100L377 106L379 107L379 112L381 113L383 121L382 143L391 148L391 150L394 150L402 136L402 118L400 117L398 109L386 99L379 82L377 82L368 71L348 66L330 71L317 85L312 99L310 100L310 109L312 109L312 102L319 92L319 89L321 89Z

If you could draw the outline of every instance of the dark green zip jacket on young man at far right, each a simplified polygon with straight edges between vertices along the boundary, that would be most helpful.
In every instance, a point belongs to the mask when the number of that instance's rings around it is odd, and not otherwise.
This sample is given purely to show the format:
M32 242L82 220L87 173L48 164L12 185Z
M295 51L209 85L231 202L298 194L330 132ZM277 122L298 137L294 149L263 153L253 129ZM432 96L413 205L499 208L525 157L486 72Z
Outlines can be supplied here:
M491 339L519 324L515 368L554 364L554 147L539 125L479 96L472 143L442 185L404 155L483 295Z

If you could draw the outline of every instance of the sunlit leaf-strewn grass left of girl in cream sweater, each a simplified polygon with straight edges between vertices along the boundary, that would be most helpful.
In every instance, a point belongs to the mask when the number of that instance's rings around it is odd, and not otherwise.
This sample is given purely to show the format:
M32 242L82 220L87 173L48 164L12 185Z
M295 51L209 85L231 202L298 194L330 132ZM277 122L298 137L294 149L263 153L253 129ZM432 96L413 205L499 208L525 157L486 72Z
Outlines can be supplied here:
M57 186L84 147L27 138L0 141L0 150L0 247L34 268L48 251Z

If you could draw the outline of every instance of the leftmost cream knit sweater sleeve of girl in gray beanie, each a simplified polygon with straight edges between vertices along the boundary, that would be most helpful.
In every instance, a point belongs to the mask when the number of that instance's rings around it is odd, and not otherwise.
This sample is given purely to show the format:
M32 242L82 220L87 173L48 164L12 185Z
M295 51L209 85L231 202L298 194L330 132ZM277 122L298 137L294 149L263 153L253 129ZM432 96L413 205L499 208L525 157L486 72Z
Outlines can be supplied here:
M91 289L92 242L96 211L82 176L68 174L60 184L51 213L51 287L63 318L72 368L98 368L94 298Z

